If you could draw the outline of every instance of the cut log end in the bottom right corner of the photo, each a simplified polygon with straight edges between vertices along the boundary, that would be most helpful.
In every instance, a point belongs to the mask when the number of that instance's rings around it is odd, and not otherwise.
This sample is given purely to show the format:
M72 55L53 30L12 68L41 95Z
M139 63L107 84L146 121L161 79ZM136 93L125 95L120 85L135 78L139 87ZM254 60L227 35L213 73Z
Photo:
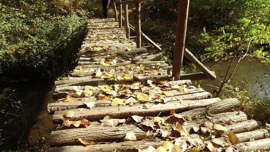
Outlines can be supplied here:
M265 147L269 145L270 145L270 138L265 138L255 141L239 143L233 145L232 147L241 152L248 152L248 151L263 150Z

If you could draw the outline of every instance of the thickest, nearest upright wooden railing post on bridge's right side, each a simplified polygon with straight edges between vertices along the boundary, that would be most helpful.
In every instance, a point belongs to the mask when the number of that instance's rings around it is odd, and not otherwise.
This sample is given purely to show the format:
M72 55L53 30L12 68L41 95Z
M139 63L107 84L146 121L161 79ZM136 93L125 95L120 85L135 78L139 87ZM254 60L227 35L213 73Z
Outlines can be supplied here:
M179 0L172 76L180 80L185 50L185 34L189 0Z

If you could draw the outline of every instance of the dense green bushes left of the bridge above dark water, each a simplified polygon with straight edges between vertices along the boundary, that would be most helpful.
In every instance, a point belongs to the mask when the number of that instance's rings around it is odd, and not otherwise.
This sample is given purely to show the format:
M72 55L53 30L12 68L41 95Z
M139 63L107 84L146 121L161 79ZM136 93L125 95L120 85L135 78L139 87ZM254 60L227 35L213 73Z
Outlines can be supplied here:
M85 21L76 14L50 15L47 4L41 2L22 1L20 9L2 5L0 81L46 78L68 71L74 60L85 35Z

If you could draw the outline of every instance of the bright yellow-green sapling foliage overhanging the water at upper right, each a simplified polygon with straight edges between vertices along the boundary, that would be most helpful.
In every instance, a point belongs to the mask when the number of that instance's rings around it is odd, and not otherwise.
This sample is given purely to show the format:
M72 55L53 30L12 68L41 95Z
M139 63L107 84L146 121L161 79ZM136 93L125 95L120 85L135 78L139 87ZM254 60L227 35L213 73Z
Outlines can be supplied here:
M270 42L270 22L265 16L269 16L268 6L270 1L221 1L227 3L224 6L236 6L230 8L230 14L236 16L226 16L229 20L220 19L224 24L214 24L208 26L208 30L204 27L204 32L201 33L199 43L205 46L205 54L201 57L203 61L227 59L228 56L234 55L244 32L253 16L253 13L259 8L255 19L251 22L250 28L247 30L245 40L241 44L239 50L246 52L249 49L249 54L261 56L267 54L267 47ZM236 4L237 3L237 4ZM221 6L220 6L221 7ZM219 8L219 7L218 7ZM221 7L223 8L223 7ZM240 8L239 10L237 10ZM234 10L236 9L236 10ZM238 12L241 11L241 12ZM211 12L211 11L210 11ZM209 33L207 33L207 31Z

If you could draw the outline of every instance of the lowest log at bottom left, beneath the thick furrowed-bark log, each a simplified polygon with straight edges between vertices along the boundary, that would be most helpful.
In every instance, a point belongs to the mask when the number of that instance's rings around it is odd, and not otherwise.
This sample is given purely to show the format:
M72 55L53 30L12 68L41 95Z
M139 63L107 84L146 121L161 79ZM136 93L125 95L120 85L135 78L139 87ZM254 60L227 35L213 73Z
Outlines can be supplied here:
M91 146L63 146L49 149L49 152L62 152L62 151L82 151L82 152L111 152L115 149L120 151L135 152L137 149L146 149L148 146L158 148L164 141L159 138L146 139L141 141L124 141L113 142L107 144L95 144Z

